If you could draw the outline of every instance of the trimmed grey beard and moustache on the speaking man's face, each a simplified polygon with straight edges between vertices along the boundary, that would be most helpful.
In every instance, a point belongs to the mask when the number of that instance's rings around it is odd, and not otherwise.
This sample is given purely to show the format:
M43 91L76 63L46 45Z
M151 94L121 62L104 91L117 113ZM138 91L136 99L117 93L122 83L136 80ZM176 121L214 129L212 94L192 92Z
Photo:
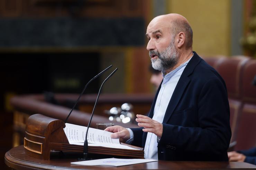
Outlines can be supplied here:
M156 70L162 71L174 67L178 62L179 53L175 49L174 41L162 52L149 51L149 56L155 54L156 59L151 59L152 67Z

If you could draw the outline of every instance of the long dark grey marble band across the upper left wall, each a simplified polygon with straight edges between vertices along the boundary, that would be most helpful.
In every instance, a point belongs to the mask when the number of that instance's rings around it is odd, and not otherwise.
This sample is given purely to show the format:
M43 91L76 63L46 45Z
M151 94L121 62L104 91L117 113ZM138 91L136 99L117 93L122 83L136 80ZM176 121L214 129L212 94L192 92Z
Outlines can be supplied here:
M0 47L143 46L143 18L0 19Z

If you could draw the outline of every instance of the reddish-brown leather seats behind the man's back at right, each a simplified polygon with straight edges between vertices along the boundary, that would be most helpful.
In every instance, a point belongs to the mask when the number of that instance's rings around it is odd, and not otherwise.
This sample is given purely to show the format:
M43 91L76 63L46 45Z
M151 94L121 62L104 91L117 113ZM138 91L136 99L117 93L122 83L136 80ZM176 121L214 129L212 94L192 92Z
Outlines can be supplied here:
M256 146L256 60L245 56L203 57L225 80L230 106L230 142L235 150Z

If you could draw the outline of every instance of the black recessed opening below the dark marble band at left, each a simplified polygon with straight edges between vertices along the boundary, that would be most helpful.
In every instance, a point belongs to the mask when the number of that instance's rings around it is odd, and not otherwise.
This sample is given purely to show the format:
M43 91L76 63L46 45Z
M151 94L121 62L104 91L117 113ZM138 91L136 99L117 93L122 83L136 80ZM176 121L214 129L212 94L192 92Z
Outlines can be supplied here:
M0 63L1 91L18 94L80 93L99 72L98 53L1 53ZM86 93L97 92L98 84L92 82Z

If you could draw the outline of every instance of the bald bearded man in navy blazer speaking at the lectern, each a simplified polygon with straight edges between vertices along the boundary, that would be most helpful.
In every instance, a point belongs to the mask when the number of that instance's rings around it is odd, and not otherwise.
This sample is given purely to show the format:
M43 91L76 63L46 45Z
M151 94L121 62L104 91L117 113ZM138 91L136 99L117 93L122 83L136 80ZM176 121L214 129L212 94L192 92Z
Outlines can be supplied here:
M147 27L152 66L163 73L141 128L108 127L119 138L143 147L145 158L178 161L228 161L231 130L225 82L192 51L193 32L179 14L154 18Z

